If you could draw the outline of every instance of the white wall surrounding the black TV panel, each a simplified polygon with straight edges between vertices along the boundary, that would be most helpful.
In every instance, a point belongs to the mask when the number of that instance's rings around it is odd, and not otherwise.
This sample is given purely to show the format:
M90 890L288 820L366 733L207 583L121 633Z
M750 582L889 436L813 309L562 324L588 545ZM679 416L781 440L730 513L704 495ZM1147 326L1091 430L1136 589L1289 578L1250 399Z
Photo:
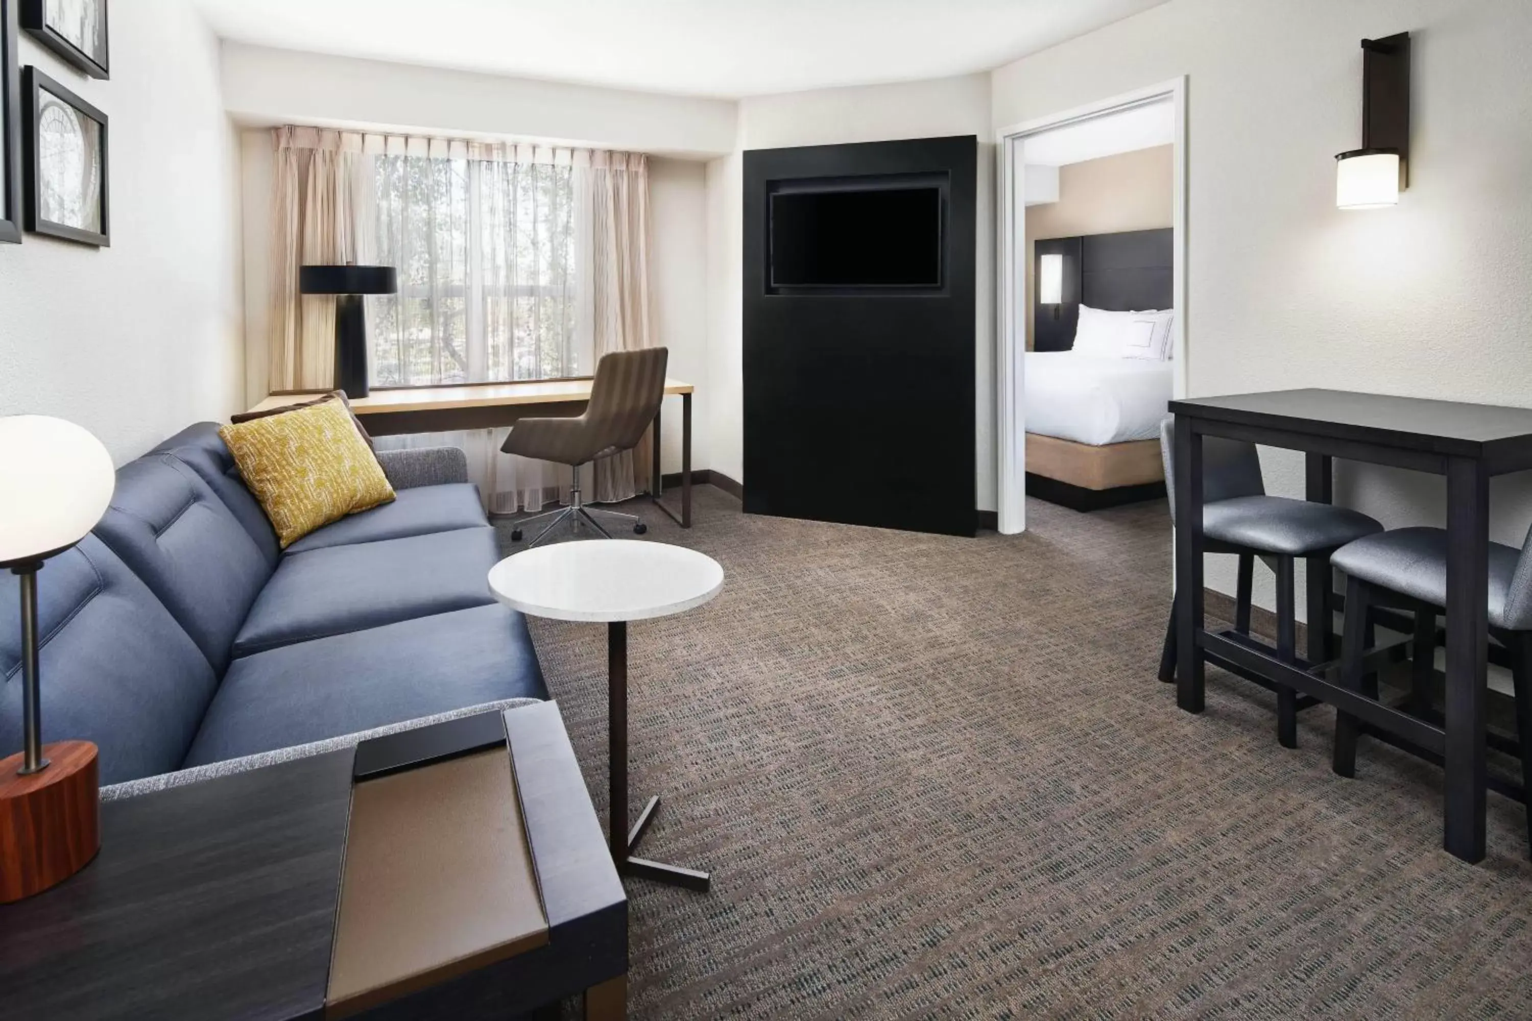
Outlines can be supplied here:
M994 453L994 147L990 77L962 75L887 86L820 89L740 101L738 148L780 148L942 135L979 136L977 237L977 504L996 508ZM738 155L708 165L709 344L715 392L711 426L715 467L743 478L741 168Z

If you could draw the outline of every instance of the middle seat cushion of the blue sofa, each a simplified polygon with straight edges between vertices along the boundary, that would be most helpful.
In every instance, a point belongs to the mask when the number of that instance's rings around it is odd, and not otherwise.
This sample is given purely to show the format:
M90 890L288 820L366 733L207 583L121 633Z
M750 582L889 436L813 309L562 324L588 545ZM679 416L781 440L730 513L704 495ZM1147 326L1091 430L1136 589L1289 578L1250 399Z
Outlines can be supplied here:
M282 557L234 638L234 655L493 603L489 527Z

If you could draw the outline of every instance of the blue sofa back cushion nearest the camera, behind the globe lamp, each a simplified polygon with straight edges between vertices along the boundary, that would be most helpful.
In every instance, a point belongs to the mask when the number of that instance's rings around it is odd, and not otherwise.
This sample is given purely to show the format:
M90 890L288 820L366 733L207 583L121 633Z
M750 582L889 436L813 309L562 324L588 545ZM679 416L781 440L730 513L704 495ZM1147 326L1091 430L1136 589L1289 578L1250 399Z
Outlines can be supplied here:
M0 577L0 758L21 750L20 586ZM95 536L37 574L43 739L95 741L103 784L178 768L218 678Z

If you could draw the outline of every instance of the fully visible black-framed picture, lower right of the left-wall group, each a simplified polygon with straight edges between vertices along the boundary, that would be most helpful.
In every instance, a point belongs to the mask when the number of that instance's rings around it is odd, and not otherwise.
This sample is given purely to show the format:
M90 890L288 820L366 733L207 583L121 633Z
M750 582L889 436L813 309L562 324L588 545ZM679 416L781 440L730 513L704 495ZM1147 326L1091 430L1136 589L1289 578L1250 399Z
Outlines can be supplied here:
M61 84L26 69L26 230L84 245L110 243L107 121Z

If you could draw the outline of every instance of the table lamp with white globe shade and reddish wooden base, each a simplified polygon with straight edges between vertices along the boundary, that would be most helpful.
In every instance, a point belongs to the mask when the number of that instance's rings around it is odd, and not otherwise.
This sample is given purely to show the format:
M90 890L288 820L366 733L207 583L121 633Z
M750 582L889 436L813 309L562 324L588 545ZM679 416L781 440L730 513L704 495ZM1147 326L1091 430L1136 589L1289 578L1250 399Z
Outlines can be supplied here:
M0 759L0 903L61 883L100 848L97 747L43 745L37 572L101 520L116 475L89 432L58 418L0 418L0 568L21 583L23 749Z

